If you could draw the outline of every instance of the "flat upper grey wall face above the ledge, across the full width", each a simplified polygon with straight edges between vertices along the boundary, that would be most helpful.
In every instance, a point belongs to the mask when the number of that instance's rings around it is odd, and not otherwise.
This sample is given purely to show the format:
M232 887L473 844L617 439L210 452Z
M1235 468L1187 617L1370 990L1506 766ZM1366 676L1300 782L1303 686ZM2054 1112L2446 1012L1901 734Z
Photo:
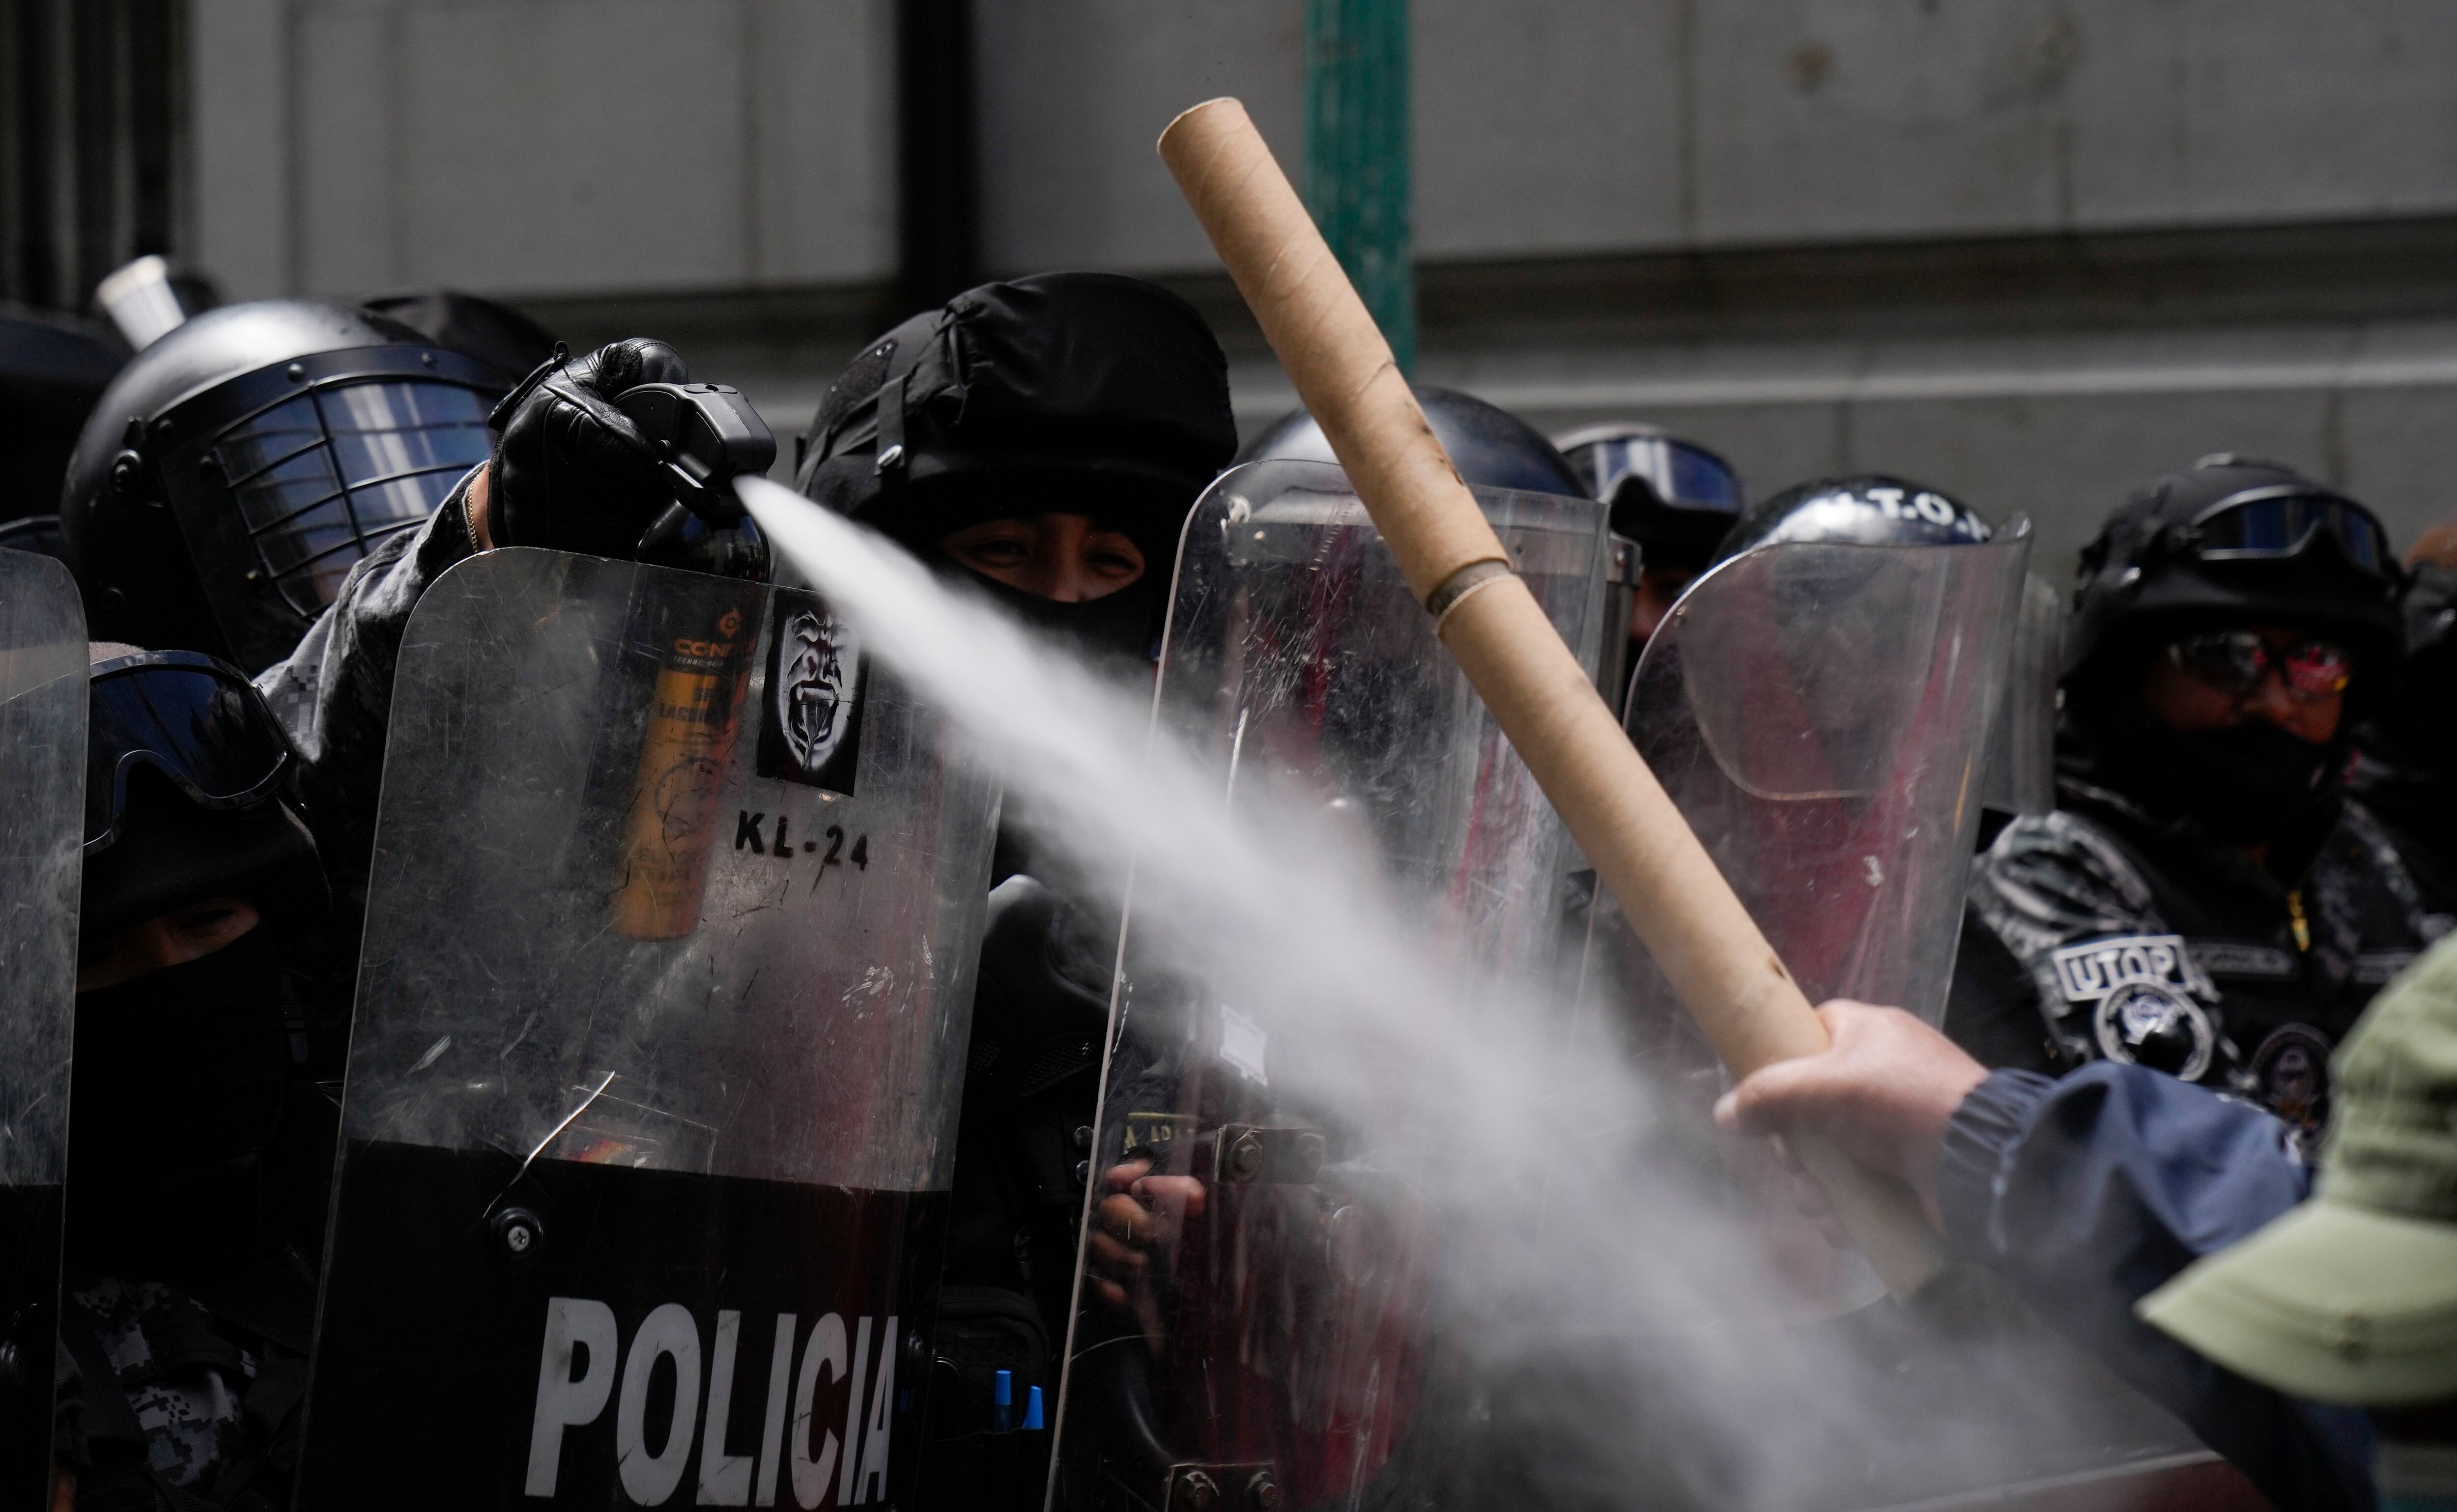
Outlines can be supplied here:
M843 283L892 258L892 0L206 0L236 290ZM988 261L1209 263L1152 135L1295 165L1302 0L980 0ZM1418 0L1425 258L2457 211L2432 0Z

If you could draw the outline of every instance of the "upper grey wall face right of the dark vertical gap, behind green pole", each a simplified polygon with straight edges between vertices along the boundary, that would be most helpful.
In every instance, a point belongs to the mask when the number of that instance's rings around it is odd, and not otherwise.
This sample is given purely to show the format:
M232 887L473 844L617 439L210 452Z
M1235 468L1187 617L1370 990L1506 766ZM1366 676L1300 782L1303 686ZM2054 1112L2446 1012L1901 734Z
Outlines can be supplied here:
M1295 162L1302 5L983 0L998 266L1192 268L1150 140ZM2430 0L1418 0L1425 258L2457 209Z

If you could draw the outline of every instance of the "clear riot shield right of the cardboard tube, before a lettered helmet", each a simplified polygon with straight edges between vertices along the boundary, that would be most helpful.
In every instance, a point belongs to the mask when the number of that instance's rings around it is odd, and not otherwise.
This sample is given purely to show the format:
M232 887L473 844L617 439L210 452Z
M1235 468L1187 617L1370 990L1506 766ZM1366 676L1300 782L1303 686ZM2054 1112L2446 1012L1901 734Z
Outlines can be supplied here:
M2027 556L2022 521L1973 546L1762 546L1683 593L1639 659L1629 738L1811 1003L1943 1018ZM1609 897L1585 993L1658 1084L1651 1158L1740 1207L1796 1315L1875 1301L1764 1143L1715 1131L1722 1062Z

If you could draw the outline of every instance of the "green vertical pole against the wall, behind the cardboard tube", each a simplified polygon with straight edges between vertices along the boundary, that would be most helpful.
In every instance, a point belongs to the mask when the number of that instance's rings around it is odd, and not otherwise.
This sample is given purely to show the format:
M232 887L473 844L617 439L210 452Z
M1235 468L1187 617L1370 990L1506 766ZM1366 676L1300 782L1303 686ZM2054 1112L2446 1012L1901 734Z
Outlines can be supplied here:
M1408 0L1305 0L1305 209L1415 371Z

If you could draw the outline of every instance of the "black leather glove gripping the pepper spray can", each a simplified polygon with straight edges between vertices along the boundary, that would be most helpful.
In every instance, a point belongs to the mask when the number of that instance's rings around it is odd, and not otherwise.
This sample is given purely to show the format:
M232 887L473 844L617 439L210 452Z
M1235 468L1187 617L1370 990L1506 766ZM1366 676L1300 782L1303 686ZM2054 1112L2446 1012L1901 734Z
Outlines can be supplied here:
M494 465L486 534L496 546L548 546L627 558L673 504L656 447L614 408L639 384L688 381L673 347L627 337L528 374L486 415Z

